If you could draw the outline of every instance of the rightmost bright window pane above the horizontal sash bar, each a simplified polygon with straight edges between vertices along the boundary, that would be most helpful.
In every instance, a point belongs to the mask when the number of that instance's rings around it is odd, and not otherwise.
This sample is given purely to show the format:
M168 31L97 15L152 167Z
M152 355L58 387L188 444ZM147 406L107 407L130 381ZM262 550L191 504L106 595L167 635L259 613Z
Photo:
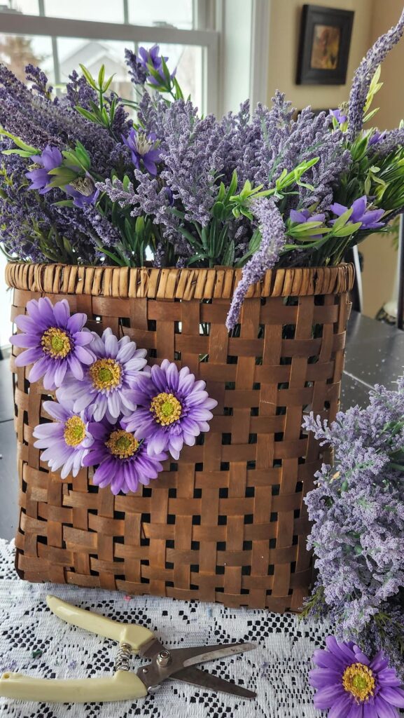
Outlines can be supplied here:
M192 0L128 0L128 10L132 25L171 25L185 30L193 27Z

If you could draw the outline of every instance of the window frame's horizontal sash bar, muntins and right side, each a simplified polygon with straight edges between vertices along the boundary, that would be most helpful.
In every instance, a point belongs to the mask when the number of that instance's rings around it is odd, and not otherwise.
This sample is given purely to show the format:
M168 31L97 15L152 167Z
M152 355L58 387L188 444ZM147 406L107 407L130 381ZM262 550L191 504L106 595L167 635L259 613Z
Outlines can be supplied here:
M39 11L43 2L39 0ZM124 8L126 3L124 2ZM205 1L197 3L197 23L206 12ZM219 32L213 29L183 30L176 27L154 27L115 22L93 22L59 17L47 17L44 14L23 15L1 13L1 33L19 35L41 35L51 37L77 37L80 39L120 40L164 45L197 45L202 47L202 104L207 112L218 111ZM127 13L126 13L127 17Z

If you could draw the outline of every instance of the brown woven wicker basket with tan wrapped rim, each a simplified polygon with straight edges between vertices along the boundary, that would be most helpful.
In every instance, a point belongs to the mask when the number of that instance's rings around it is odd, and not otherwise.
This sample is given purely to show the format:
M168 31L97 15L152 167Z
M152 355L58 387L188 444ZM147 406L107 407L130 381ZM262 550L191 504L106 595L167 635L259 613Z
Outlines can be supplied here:
M29 299L66 298L91 329L111 327L149 350L150 363L189 366L218 401L203 444L184 447L148 488L114 497L87 470L62 481L40 461L32 430L47 393L12 362L20 577L299 609L311 580L303 498L321 464L302 412L336 414L354 273L350 265L268 272L245 300L240 335L229 338L239 277L220 268L9 264L13 317Z

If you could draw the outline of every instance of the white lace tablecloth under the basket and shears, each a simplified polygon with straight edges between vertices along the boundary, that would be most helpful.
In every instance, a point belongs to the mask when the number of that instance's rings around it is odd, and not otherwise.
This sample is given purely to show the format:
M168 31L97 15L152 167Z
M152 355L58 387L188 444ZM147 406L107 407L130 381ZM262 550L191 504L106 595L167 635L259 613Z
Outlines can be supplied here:
M257 643L241 656L205 663L211 673L257 692L246 700L166 681L141 701L104 704L38 704L0 698L1 718L321 718L307 676L314 648L327 628L299 623L294 615L232 610L72 586L29 584L14 572L14 551L0 539L0 673L79 678L113 672L116 643L67 625L47 608L52 593L66 601L154 630L167 646ZM133 658L136 670L141 659Z

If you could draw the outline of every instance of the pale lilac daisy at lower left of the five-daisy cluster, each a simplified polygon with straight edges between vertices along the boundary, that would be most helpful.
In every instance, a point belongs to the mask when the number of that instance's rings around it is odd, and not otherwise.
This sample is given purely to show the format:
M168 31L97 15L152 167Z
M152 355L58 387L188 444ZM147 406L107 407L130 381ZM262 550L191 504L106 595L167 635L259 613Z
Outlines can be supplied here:
M52 471L62 468L62 479L70 472L77 476L83 459L93 444L93 437L88 432L92 407L80 411L80 414L73 411L72 401L64 401L62 404L57 401L44 401L43 407L56 421L35 426L33 434L37 441L34 447L46 449L41 454L42 461L47 461Z

